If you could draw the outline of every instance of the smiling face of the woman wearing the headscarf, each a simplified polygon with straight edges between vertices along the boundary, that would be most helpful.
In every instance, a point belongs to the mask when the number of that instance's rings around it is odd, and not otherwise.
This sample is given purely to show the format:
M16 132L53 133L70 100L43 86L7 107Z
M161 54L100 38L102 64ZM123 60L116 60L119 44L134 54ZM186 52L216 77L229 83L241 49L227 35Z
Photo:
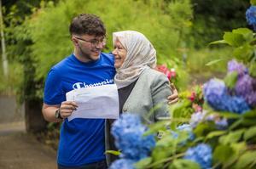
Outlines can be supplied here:
M127 51L125 50L125 48L123 47L121 42L119 42L118 39L113 43L113 52L112 53L114 56L114 67L116 69L119 69L119 67L121 67L121 65L123 65L123 63L125 61Z

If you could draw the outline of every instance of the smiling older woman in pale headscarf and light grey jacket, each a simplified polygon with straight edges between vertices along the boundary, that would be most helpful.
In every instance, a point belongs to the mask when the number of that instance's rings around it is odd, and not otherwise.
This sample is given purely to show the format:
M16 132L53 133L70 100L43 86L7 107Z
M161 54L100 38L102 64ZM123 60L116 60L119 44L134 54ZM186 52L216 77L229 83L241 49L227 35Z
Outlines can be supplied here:
M167 77L154 70L156 51L151 42L140 32L118 31L113 33L113 46L120 113L139 114L148 124L168 117L167 98L172 89ZM112 122L108 121L108 132ZM115 149L113 138L108 137L107 149Z

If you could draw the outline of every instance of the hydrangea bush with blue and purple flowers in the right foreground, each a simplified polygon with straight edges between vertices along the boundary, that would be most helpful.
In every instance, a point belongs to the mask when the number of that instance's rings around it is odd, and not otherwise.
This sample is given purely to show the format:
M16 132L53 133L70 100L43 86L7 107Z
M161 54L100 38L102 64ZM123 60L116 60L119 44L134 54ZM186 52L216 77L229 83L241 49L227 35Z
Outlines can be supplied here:
M251 2L246 17L256 25ZM256 168L255 34L239 28L216 43L234 48L224 79L183 93L171 121L145 127L138 117L121 117L112 132L122 154L111 168Z

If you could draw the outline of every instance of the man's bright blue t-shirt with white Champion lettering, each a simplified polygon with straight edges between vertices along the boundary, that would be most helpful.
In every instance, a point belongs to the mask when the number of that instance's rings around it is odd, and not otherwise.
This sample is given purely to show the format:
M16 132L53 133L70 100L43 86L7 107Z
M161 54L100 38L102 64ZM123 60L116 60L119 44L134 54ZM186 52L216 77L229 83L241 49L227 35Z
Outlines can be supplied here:
M44 103L61 104L66 93L80 87L112 84L115 69L113 55L100 55L90 63L79 61L73 54L49 70L45 87ZM105 159L104 119L63 121L58 149L58 164L83 166Z

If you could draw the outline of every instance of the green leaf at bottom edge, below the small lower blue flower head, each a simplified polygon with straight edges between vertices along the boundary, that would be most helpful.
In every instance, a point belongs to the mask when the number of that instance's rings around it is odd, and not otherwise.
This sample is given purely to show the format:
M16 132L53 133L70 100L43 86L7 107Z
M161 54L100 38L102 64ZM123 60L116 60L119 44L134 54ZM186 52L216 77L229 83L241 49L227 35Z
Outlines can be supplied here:
M200 169L200 165L194 161L178 159L176 161L172 161L172 164L168 167L168 169Z

